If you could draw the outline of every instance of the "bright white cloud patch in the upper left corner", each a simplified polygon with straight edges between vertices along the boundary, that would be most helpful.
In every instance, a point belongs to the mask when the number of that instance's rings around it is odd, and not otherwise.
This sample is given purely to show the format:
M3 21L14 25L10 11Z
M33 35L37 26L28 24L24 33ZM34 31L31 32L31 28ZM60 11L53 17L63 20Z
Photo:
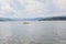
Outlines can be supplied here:
M4 11L4 12L8 12L8 11L11 11L12 10L12 8L10 7L10 1L9 0L0 0L0 4L1 4L1 7L0 7L0 9L2 10L2 11Z

